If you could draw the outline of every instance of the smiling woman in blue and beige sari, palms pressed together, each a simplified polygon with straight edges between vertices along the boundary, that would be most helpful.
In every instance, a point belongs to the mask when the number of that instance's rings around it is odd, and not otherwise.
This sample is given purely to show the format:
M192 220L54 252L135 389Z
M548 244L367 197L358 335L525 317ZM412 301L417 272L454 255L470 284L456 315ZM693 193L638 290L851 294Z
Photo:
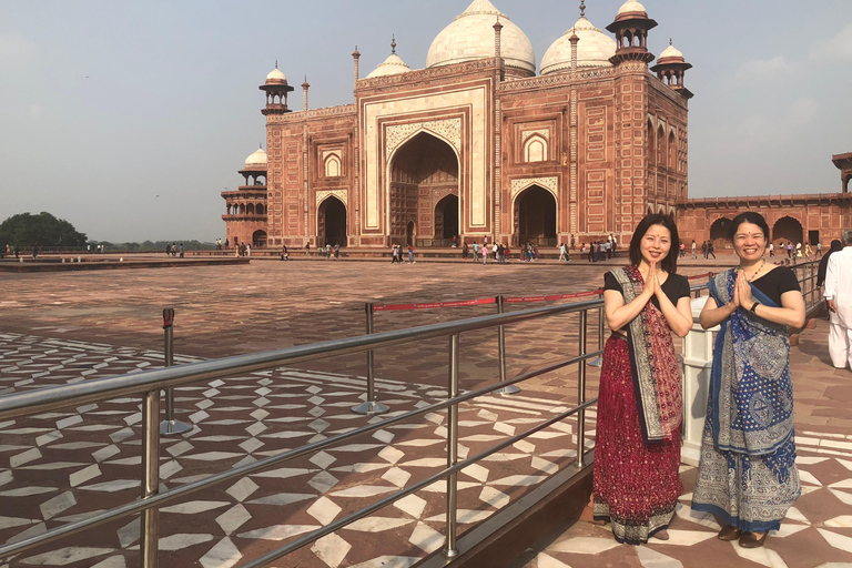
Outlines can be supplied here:
M701 311L701 326L721 331L692 509L716 516L719 539L757 548L801 494L789 327L804 325L804 301L795 274L763 258L760 214L737 215L729 236L740 264L710 281Z

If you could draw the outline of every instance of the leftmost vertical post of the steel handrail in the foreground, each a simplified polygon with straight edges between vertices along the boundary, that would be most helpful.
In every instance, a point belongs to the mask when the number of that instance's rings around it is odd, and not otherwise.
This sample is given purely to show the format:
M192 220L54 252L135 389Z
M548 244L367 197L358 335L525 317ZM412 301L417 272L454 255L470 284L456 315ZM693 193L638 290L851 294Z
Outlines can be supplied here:
M145 393L142 398L142 499L159 493L160 488L160 389ZM160 542L160 509L142 511L140 524L139 566L158 567Z

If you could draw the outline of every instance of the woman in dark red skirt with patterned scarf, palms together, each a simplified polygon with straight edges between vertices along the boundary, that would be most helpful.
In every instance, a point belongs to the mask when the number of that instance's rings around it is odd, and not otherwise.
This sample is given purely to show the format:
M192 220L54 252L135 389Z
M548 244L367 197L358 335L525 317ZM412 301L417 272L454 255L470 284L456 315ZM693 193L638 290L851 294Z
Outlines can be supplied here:
M630 266L605 276L612 335L604 348L595 446L595 518L619 542L667 539L683 490L680 366L671 333L692 327L689 282L677 272L678 229L646 216L630 241Z

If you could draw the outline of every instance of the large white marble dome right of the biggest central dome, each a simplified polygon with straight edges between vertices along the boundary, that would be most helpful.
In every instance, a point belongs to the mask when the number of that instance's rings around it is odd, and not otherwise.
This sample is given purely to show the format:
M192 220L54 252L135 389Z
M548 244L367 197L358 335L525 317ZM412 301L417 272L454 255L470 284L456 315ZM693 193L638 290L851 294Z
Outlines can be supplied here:
M559 73L571 69L571 42L572 33L577 33L580 41L577 43L577 67L612 67L609 58L616 54L618 44L606 32L599 30L585 17L577 20L574 28L556 40L541 59L541 74Z

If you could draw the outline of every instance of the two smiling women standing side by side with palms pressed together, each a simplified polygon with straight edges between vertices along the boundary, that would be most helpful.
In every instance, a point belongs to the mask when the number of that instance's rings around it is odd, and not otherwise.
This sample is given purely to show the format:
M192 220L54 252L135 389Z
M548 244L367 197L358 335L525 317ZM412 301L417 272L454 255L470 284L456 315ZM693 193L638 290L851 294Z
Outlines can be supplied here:
M788 328L804 325L804 301L795 274L763 257L770 240L760 214L734 217L728 236L739 264L710 281L700 316L703 328L721 327L692 509L716 517L719 539L755 548L801 494ZM648 215L630 242L630 264L604 281L612 335L600 376L594 514L619 542L668 539L683 493L680 427L692 402L681 398L672 332L684 337L692 313L679 254L673 220Z

